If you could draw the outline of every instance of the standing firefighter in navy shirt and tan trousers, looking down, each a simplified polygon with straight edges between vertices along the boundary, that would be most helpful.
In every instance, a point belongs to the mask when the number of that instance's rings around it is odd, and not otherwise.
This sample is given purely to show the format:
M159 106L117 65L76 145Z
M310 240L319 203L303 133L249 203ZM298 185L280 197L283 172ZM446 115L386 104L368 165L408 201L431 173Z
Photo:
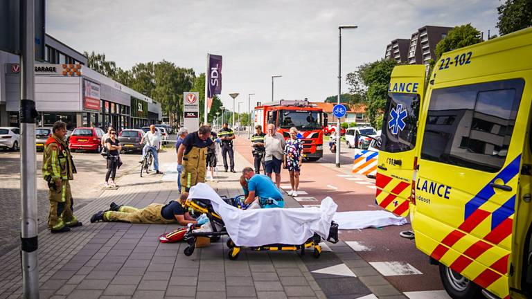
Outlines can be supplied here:
M205 182L207 147L213 144L211 127L204 125L197 132L188 134L177 151L177 170L181 172L183 192Z

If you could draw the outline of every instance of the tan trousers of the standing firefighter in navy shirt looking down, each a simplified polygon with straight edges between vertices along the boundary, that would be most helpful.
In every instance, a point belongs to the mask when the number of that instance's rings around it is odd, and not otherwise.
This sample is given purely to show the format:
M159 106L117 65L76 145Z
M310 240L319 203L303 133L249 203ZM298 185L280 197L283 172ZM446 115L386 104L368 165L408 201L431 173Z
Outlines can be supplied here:
M183 156L181 184L185 187L185 192L197 183L205 183L206 158L206 147L192 147L190 152Z

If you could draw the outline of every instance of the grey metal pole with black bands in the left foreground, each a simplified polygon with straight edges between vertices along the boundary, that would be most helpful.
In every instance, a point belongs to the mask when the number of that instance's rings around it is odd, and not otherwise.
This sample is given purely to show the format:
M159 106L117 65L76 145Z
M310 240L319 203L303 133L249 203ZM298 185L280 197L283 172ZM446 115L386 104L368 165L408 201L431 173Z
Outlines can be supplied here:
M37 164L35 158L35 3L21 1L21 84L20 84L20 203L21 265L24 298L39 298L37 269Z

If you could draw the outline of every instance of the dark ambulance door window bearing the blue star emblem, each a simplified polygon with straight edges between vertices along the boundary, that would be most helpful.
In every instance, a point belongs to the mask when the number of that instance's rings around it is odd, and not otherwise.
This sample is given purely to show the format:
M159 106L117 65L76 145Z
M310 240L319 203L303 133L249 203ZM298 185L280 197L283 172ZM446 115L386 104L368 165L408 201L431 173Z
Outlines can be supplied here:
M388 93L380 150L406 152L416 147L419 101L418 94Z

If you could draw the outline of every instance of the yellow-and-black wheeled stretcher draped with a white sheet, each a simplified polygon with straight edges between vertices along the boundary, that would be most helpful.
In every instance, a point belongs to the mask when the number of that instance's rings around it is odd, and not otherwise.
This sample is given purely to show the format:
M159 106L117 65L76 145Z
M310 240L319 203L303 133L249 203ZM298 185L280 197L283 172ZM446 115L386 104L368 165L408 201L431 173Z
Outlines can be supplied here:
M303 239L302 242L299 242L297 244L286 244L285 242L268 242L268 244L260 244L260 236L254 239L247 236L242 236L239 232L235 233L234 224L231 225L233 230L233 233L231 234L231 231L227 230L227 223L224 222L224 219L222 219L221 215L229 215L231 217L234 216L233 218L231 218L231 221L238 221L235 219L242 218L239 217L242 215L245 216L245 214L241 213L253 212L255 217L250 217L251 219L260 219L260 217L256 217L256 215L267 213L268 215L266 216L269 217L269 219L272 219L273 215L274 220L278 218L277 220L281 221L282 223L285 223L283 221L287 221L287 219L292 221L303 221L301 226L304 226L305 228L310 228L312 225L309 224L312 224L312 219L317 219L317 215L320 215L320 212L318 208L314 208L315 210L313 211L308 210L308 208L274 208L244 211L238 208L242 203L242 199L244 198L243 195L232 198L219 197L218 194L215 194L215 192L211 189L209 185L198 185L196 185L190 190L190 194L185 205L188 208L192 208L197 212L204 213L211 222L212 231L202 231L201 229L198 230L195 225L189 224L184 235L184 241L188 244L188 246L184 249L184 254L187 256L190 256L194 253L197 237L209 237L211 238L211 242L215 242L218 241L218 239L220 239L220 237L224 235L229 236L229 239L226 242L227 247L229 248L229 260L236 260L243 249L249 249L251 251L299 251L301 255L304 255L305 251L311 250L312 255L318 258L321 255L321 246L319 245L319 243L321 243L323 240L327 240L328 242L332 243L338 242L338 225L334 221L332 221L332 215L329 215L330 217L326 217L326 219L323 219L323 217L321 217L321 219L319 220L321 221L321 224L319 226L314 225L314 228L317 228L315 229L316 232L312 233L312 229L306 229L304 233L307 235L310 233L310 236L306 237L306 239ZM203 192L194 192L194 188L203 188ZM207 190L206 188L209 188L211 190ZM323 201L326 201L326 199L324 199ZM332 199L330 199L328 203L332 203L332 205L334 205L333 208L335 211L336 204L332 202ZM216 208L218 208L218 212L216 211ZM277 212L275 212L276 209ZM332 212L332 214L334 214L334 211ZM276 215L279 216L276 217ZM308 215L310 215L311 217L309 217ZM249 220L245 217L243 217L243 219ZM327 227L323 226L324 221L328 221L326 223ZM260 226L260 223L251 223L246 225ZM301 235L297 237L301 237ZM297 237L294 236L294 238L290 238L290 236L288 236L287 238L286 236L280 235L278 239L281 241L282 239L297 239ZM269 238L265 239L275 240L276 236L272 237L272 235L269 235Z

